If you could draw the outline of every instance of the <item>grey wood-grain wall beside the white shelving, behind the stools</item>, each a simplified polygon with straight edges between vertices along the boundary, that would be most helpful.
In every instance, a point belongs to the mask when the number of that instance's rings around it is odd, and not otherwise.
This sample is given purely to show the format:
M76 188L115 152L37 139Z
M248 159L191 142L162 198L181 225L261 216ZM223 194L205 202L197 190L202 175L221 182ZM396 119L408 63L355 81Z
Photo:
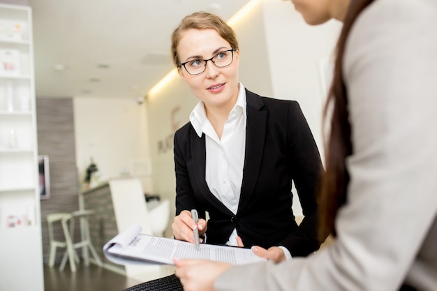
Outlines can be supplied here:
M72 98L36 98L38 154L49 156L50 198L41 200L41 229L44 262L48 260L47 214L79 209L79 181L76 170L75 129ZM61 227L54 227L62 238ZM78 235L78 232L77 232ZM57 252L57 262L62 251Z

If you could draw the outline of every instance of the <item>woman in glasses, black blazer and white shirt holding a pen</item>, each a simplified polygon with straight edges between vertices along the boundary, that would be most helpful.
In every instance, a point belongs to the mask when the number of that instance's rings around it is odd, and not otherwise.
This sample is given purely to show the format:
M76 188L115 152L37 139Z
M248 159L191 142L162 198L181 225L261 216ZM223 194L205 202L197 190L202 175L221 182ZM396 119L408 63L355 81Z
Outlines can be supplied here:
M188 15L172 33L179 76L199 99L175 133L174 237L193 243L198 227L202 242L253 246L275 262L309 255L320 246L316 142L297 102L261 97L239 82L239 57L234 31L216 15Z

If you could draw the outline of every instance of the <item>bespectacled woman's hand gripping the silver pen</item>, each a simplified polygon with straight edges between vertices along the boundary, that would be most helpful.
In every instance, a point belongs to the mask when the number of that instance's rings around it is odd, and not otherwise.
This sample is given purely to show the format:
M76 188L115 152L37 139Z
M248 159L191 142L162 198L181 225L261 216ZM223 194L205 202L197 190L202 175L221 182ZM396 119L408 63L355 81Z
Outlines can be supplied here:
M191 244L194 244L193 230L195 227L195 222L193 221L193 218L191 218L191 212L188 210L181 211L178 216L173 218L172 230L175 239L189 241ZM197 227L199 230L199 236L202 236L207 231L207 221L200 218ZM202 242L202 239L199 240Z

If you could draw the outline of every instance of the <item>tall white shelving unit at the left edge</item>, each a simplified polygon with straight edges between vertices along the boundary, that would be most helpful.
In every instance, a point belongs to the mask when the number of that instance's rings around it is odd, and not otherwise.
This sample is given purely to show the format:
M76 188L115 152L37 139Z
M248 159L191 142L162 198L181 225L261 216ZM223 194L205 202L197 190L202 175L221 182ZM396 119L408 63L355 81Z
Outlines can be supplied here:
M0 4L0 290L43 291L31 8Z

